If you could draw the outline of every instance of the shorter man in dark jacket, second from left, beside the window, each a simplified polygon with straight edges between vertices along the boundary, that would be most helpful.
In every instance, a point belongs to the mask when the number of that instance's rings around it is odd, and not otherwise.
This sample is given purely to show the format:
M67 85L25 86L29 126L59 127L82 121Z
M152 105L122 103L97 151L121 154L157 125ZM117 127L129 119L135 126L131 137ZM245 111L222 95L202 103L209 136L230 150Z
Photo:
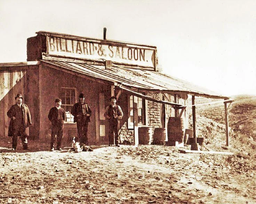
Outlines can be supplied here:
M63 138L63 129L65 121L65 110L61 107L61 99L55 99L55 107L50 109L48 119L51 121L51 151L54 151L54 143L57 138L56 149L61 151L61 141Z

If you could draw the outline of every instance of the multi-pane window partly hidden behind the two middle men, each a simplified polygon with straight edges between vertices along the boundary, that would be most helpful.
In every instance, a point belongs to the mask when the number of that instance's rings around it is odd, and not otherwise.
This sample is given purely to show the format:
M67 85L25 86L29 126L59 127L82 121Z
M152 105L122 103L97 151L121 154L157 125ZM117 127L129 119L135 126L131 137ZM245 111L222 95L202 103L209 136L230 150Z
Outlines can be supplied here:
M75 88L64 88L60 90L60 98L62 100L61 107L66 112L65 122L74 122L74 116L71 114L71 108L76 103L76 89Z

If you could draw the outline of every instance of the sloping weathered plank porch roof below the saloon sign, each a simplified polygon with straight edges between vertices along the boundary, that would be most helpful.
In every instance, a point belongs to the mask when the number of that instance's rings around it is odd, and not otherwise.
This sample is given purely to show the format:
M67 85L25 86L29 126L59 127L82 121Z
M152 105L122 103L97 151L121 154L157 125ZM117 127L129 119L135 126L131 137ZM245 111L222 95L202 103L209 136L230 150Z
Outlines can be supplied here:
M112 64L110 69L106 69L105 66L90 65L86 63L54 60L41 61L127 88L135 88L138 90L159 90L162 92L183 92L209 98L228 98L162 72L124 68L115 64Z

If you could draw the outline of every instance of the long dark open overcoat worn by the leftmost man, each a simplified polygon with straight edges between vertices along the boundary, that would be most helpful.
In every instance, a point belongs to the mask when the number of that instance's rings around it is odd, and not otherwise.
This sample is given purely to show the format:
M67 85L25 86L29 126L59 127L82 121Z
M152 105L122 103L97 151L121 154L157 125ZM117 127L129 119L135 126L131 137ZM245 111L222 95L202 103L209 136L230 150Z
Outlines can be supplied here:
M7 112L7 116L11 119L8 129L8 136L13 136L13 131L15 129L15 122L17 119L13 120L13 116L16 117L16 113L18 112L18 105L14 104L11 106L9 111ZM32 124L31 122L31 115L29 112L29 107L27 107L26 104L22 104L22 110L23 110L23 129L24 129L24 135L29 136L29 125Z

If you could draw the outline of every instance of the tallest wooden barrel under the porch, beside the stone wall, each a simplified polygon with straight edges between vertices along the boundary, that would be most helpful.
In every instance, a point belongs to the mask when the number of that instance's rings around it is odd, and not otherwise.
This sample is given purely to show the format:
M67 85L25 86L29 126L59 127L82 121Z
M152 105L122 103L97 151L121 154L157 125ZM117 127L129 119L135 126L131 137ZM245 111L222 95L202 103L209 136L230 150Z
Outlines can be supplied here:
M169 117L167 125L168 141L183 142L184 121L181 117Z

